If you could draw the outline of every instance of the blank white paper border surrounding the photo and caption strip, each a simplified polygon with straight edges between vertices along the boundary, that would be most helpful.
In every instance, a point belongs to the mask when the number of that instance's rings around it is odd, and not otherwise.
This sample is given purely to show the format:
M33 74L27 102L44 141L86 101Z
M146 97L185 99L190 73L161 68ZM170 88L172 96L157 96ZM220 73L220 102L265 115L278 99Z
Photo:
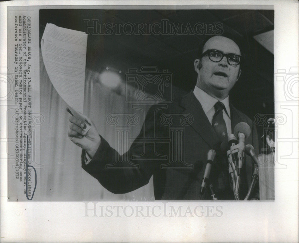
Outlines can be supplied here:
M7 6L39 6L37 8L99 8L101 6L174 9L196 8L198 1L8 1L1 3L0 67L7 67ZM176 6L176 4L178 4ZM298 1L200 1L209 9L274 9L274 71L298 68ZM206 5L208 4L208 5ZM221 4L221 5L219 5ZM238 5L231 5L238 4ZM56 5L56 6L54 6ZM298 70L298 69L297 69ZM275 87L276 87L275 83ZM275 100L285 99L282 89L275 88ZM1 84L1 96L7 92ZM7 161L1 159L1 242L298 242L298 101L276 102L275 114L288 106L293 115L293 134L290 140L278 143L277 156L285 159L287 169L275 170L275 201L250 202L7 202ZM6 134L7 106L1 104L1 137ZM297 121L297 122L296 122ZM288 127L280 126L281 133ZM291 142L290 142L291 141ZM1 158L5 157L7 141L1 138ZM292 146L292 155L286 156ZM114 206L128 211L120 215L94 216L86 208L96 204L100 208ZM161 209L167 204L175 208L198 207L204 215L163 216ZM130 207L149 207L150 216L128 216ZM213 206L213 211L211 209ZM216 207L218 206L218 211ZM110 208L111 207L111 208ZM158 210L158 211L156 211ZM160 211L159 211L160 210ZM167 209L169 210L169 208ZM214 216L209 215L212 210ZM107 211L107 210L106 210ZM114 211L113 211L114 212ZM107 213L107 212L106 212ZM216 216L215 216L216 215Z

